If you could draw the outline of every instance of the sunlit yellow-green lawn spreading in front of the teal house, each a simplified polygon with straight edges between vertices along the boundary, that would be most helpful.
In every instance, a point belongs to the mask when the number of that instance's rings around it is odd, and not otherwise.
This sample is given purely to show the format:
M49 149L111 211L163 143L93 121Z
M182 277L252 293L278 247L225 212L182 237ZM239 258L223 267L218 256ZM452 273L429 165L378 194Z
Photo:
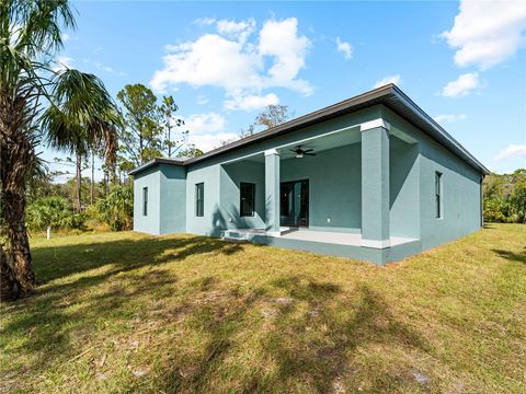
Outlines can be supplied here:
M526 225L386 268L190 235L33 239L1 392L524 393Z

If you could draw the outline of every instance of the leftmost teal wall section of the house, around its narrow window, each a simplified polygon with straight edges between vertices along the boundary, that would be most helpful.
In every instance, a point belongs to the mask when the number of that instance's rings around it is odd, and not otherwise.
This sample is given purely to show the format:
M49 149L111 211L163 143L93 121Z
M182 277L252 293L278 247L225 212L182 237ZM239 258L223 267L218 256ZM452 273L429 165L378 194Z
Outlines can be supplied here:
M134 176L134 230L161 234L159 166L147 169ZM142 188L148 187L148 215L142 215Z

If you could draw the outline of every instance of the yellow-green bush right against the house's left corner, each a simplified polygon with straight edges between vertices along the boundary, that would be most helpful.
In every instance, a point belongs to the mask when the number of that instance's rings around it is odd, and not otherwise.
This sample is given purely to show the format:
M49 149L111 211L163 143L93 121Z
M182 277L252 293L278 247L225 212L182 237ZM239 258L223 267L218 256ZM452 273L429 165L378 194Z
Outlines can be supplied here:
M99 218L113 231L130 230L134 215L132 186L115 186L105 198L96 202Z

